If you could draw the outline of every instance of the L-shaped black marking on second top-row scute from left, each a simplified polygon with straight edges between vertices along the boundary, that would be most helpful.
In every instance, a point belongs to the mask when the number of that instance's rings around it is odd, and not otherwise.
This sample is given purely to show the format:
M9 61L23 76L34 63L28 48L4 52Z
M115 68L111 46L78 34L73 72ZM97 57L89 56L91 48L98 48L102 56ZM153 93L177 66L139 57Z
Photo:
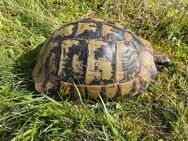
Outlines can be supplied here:
M96 39L101 36L101 27L102 23L94 22L96 24L96 31L93 32L92 30L85 30L82 34L77 35L76 37L80 39ZM92 26L91 26L92 27Z

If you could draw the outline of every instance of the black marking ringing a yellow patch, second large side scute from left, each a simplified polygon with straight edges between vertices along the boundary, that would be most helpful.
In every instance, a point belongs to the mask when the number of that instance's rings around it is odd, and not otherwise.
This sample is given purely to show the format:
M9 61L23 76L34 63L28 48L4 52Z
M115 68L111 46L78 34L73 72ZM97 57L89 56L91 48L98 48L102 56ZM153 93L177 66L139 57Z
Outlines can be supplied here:
M70 82L72 84L73 81L75 84L84 84L85 82L86 65L88 58L88 44L84 40L79 40L79 42L79 45L73 45L69 48L69 52L66 54L67 59L64 64L63 74L60 76L61 80L65 82L72 80ZM74 55L77 55L79 60L82 62L82 74L73 72L72 61Z

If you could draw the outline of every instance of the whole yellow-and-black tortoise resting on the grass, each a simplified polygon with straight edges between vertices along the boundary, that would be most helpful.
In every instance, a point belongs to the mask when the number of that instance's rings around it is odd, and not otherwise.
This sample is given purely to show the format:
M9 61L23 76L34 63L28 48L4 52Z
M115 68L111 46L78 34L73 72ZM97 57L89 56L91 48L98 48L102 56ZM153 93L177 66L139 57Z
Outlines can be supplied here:
M119 99L142 93L170 59L111 21L84 19L52 33L33 70L40 93Z

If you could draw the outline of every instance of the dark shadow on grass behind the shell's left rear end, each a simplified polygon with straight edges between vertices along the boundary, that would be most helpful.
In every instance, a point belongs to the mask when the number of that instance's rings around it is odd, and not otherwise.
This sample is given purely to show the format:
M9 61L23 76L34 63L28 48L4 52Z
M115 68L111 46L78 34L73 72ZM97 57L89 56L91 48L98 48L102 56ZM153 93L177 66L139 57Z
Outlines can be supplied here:
M13 73L16 74L17 82L20 87L35 92L35 86L32 79L32 71L37 62L38 54L44 42L37 45L34 49L26 49L15 62Z

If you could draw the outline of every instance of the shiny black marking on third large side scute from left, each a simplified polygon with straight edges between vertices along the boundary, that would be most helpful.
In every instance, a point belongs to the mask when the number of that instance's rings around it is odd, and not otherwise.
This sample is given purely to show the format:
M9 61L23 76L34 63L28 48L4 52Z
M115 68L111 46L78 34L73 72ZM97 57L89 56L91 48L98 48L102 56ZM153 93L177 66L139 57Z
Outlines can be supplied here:
M111 64L112 68L112 77L109 80L102 79L102 78L94 78L94 80L90 83L93 85L100 85L100 84L109 84L113 83L115 80L115 45L113 43L108 43L107 46L102 45L100 48L96 49L94 51L94 56L96 60L99 60L99 58L106 58L106 60ZM101 72L101 74L104 74L103 70L99 69L97 66L95 66L95 71Z

